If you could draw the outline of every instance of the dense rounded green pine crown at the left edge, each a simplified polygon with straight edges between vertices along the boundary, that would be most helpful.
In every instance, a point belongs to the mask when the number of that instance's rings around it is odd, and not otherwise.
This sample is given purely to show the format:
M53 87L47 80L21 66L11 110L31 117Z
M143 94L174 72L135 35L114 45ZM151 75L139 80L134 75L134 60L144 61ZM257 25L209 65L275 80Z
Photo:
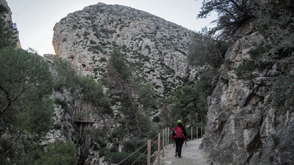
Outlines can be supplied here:
M9 47L0 50L0 62L5 63L0 67L1 120L15 120L18 130L46 133L54 110L48 63L37 54ZM39 118L43 118L42 123L37 122Z

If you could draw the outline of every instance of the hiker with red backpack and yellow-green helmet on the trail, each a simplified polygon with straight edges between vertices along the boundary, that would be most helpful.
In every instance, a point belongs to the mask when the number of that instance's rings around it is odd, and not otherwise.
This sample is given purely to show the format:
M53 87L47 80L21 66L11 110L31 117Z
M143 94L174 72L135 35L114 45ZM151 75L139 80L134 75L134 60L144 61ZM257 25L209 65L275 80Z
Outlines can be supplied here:
M185 139L187 140L187 133L185 130L185 127L182 124L182 120L178 120L178 126L175 127L173 130L173 136L171 137L171 140L175 139L176 143L176 154L175 157L182 157L182 146L184 144Z

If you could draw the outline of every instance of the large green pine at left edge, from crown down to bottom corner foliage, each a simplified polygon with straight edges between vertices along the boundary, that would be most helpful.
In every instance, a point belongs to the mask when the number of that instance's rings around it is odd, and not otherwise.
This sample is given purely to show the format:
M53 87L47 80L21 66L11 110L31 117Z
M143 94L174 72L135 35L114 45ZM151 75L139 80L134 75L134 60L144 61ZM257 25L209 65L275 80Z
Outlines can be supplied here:
M20 164L52 127L53 78L36 53L5 47L0 62L0 164Z

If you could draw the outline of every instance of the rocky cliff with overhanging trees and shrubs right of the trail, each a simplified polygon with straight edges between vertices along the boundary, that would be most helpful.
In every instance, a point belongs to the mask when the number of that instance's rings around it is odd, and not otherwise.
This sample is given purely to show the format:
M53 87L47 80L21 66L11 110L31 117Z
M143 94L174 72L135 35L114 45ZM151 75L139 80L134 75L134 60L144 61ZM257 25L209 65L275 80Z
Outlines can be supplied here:
M288 0L203 1L198 18L215 11L216 27L203 30L211 38L196 42L188 57L191 64L195 57L207 58L204 64L220 72L208 97L211 117L201 144L216 164L294 162L289 143L294 103L293 5ZM221 51L214 45L229 42L221 61L217 53ZM213 51L201 55L197 45ZM220 67L211 65L216 60ZM231 152L224 152L228 149Z

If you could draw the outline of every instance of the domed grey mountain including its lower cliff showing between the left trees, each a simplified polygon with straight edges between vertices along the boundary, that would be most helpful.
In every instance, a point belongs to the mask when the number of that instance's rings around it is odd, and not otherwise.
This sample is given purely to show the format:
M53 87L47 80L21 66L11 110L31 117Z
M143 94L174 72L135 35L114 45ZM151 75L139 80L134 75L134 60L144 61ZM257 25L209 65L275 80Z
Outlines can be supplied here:
M70 13L56 23L53 45L57 56L71 60L82 75L92 75L96 80L106 78L106 62L114 49L120 49L133 74L142 83L154 86L156 98L164 99L169 91L197 80L197 70L186 62L193 35L194 32L150 13L98 3ZM57 77L54 55L45 54L44 58ZM89 148L89 130L93 127L87 122L90 118L76 115L88 106L72 101L68 93L64 89L54 91L54 128L44 143L56 139L74 142L79 146L79 161L101 163L99 151Z

